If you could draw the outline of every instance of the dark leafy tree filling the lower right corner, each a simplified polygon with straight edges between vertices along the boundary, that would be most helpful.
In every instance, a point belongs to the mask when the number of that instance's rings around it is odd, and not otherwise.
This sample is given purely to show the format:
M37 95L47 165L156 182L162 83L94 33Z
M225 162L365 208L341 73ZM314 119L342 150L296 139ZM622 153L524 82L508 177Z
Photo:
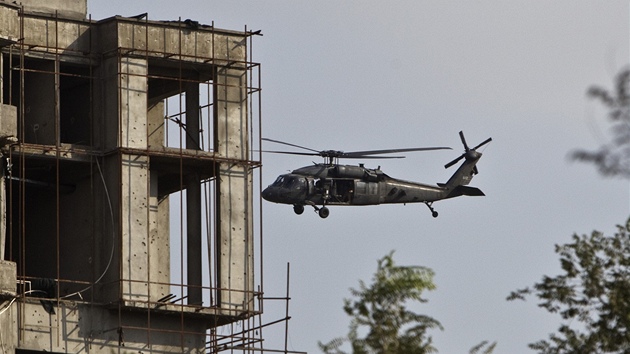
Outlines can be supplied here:
M574 235L555 251L560 275L508 297L533 295L562 318L557 333L529 347L543 354L630 352L630 219L613 236Z

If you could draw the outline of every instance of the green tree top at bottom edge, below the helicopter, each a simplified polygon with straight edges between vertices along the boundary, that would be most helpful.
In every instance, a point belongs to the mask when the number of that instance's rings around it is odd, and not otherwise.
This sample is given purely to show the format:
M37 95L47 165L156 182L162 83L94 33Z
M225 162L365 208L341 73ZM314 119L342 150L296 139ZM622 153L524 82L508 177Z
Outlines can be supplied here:
M393 253L378 260L372 284L360 281L359 289L350 289L353 299L345 299L343 307L352 317L349 334L326 344L319 343L324 353L343 354L341 346L347 342L354 354L437 352L427 331L442 329L440 323L406 307L408 301L427 301L422 293L435 289L433 271L419 266L397 266Z

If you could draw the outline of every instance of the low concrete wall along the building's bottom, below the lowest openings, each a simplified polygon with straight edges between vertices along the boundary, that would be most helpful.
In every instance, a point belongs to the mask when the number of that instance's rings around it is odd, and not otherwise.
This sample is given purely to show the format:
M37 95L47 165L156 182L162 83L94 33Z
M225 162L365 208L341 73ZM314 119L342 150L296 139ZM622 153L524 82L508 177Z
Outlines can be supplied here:
M18 309L17 304L13 307ZM15 311L14 309L14 311ZM204 353L206 324L64 301L55 314L37 300L19 306L20 349L54 353ZM23 312L22 312L23 311ZM18 316L15 316L18 317ZM4 337L3 337L4 339Z

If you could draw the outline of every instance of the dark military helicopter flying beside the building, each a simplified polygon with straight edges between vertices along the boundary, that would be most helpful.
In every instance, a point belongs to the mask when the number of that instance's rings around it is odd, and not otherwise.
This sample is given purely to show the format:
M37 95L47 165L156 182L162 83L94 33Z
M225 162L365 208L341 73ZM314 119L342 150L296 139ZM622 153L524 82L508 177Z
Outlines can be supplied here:
M342 165L341 158L354 159L391 159L404 156L375 156L381 154L402 153L412 151L443 150L449 147L425 147L387 150L367 150L343 152L336 150L317 151L304 146L286 143L279 140L262 138L262 140L306 150L298 151L264 151L269 153L321 156L324 163L314 163L293 170L291 173L278 176L276 180L262 191L262 197L273 203L293 205L295 214L302 214L305 206L311 206L321 218L330 215L328 206L332 205L379 205L379 204L407 204L424 203L431 215L436 218L438 212L433 203L442 199L459 196L484 196L478 188L469 187L473 176L479 173L477 162L481 153L477 151L483 145L492 141L484 140L479 145L469 148L462 131L459 137L464 145L464 153L444 165L449 168L464 160L446 183L427 185L409 182L388 176L378 168L366 168L364 164Z

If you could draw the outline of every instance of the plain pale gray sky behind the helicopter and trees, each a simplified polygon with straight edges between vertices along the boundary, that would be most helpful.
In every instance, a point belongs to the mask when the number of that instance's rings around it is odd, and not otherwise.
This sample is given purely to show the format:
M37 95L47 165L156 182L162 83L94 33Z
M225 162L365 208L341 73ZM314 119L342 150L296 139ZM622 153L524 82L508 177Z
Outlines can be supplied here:
M628 182L573 163L575 148L607 140L606 111L586 89L611 87L629 62L627 1L89 1L93 19L149 12L220 28L261 29L263 136L314 149L451 146L370 162L385 173L445 182L443 165L487 137L471 185L486 197L422 204L332 207L322 220L265 203L265 291L285 294L291 264L289 347L347 333L343 299L395 250L401 265L436 272L437 290L414 309L444 326L441 353L482 340L528 353L559 318L510 291L559 271L554 244L593 229L612 233L629 215ZM278 146L274 146L274 149ZM312 159L264 156L264 183ZM319 162L319 161L317 161ZM356 163L357 161L347 161ZM284 303L265 308L268 321ZM278 327L278 326L276 326ZM284 327L265 329L282 348Z

